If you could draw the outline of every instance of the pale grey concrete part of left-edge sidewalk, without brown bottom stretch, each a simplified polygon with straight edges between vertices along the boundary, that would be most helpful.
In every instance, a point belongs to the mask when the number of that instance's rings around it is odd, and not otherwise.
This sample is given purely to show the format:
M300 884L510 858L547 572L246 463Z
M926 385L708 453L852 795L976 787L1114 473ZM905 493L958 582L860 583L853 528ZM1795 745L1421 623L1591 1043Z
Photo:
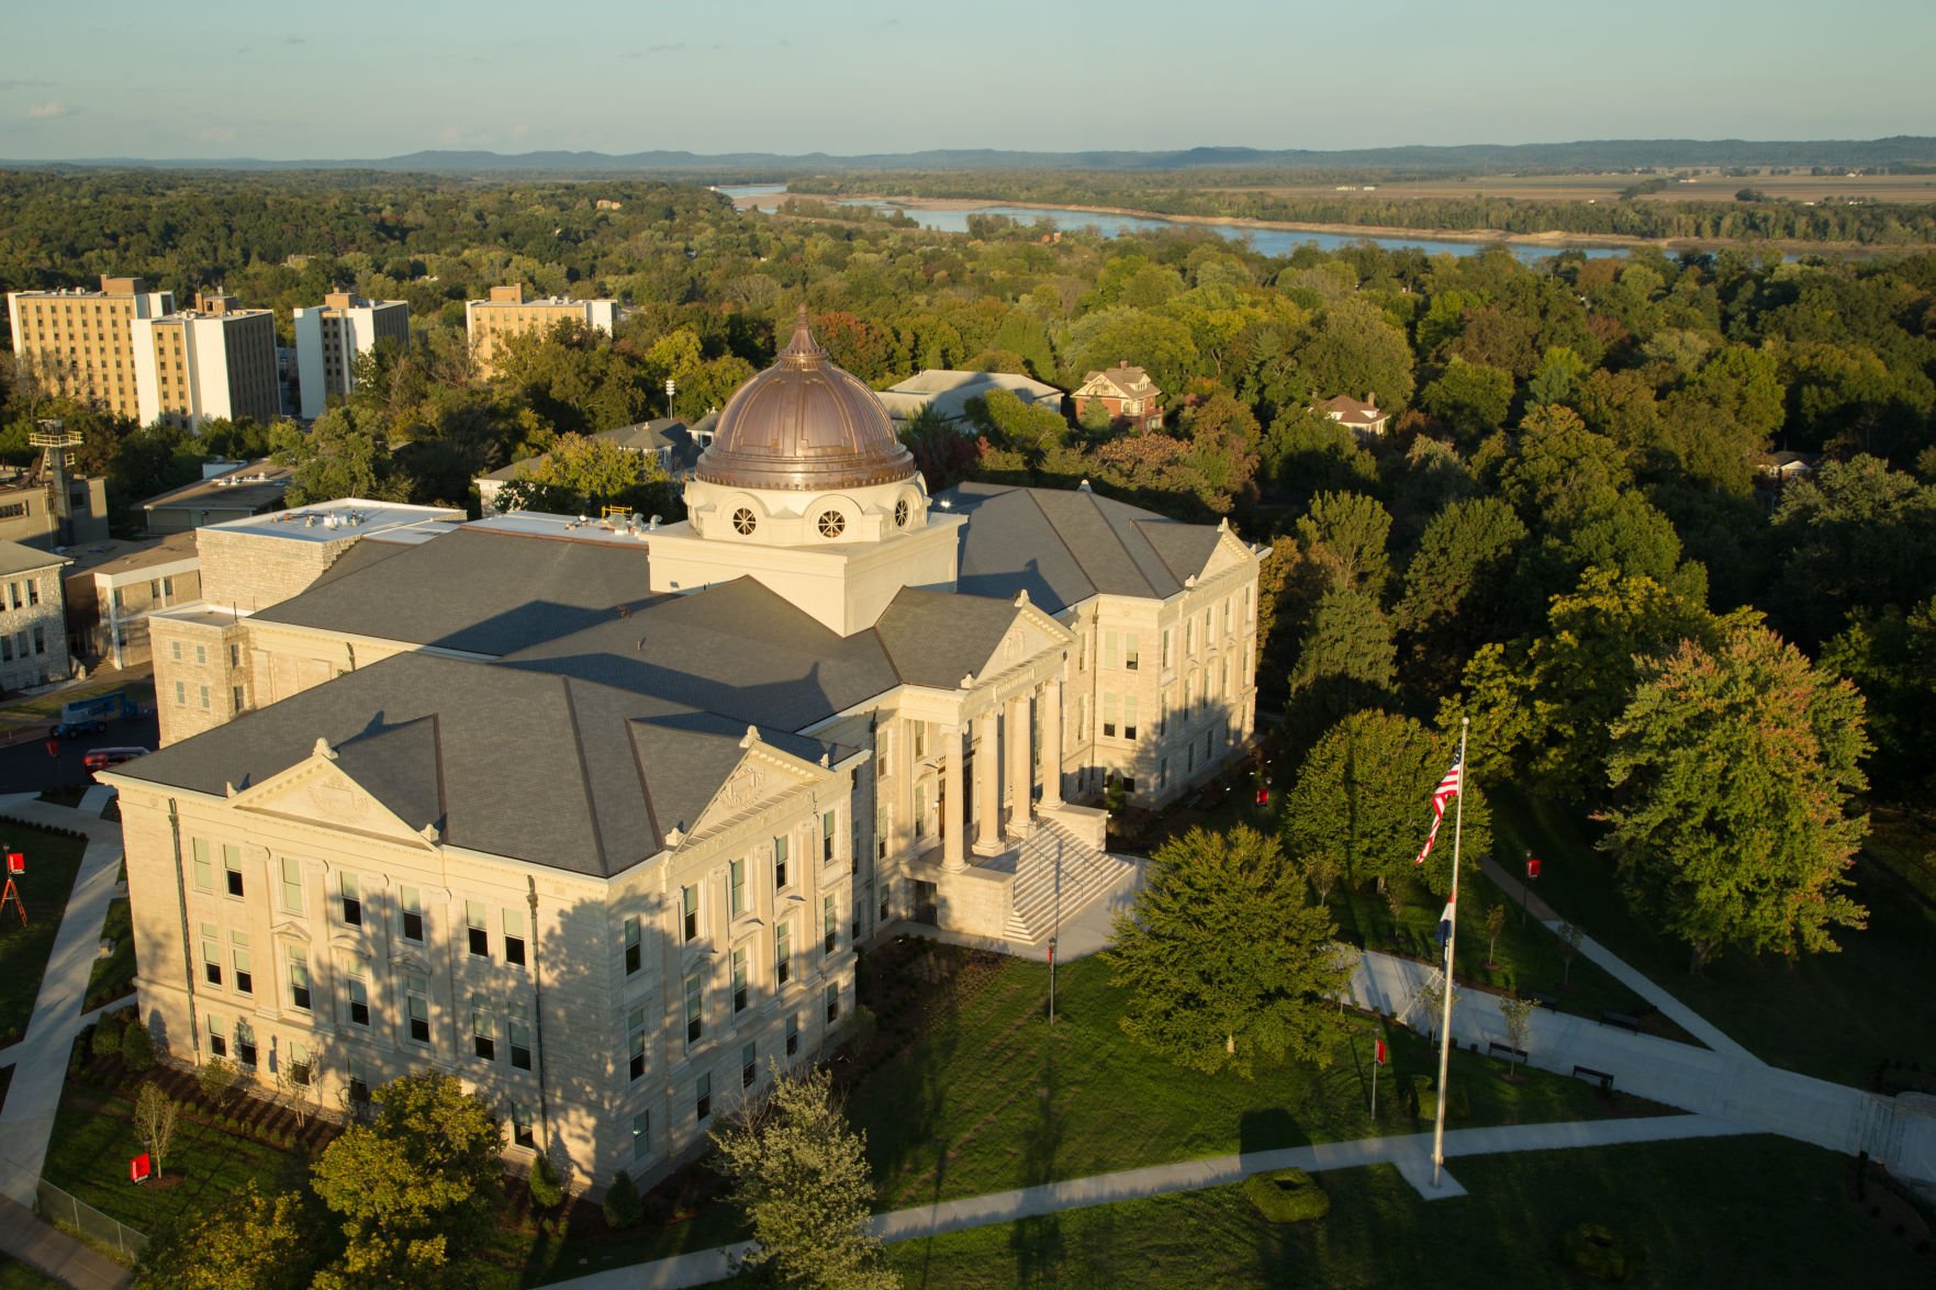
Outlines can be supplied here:
M33 1205L46 1139L54 1131L54 1110L68 1077L68 1052L81 1029L87 978L93 974L101 924L114 899L120 870L120 825L99 815L41 802L31 794L0 798L0 815L76 829L89 835L81 870L74 877L68 910L54 934L54 949L41 976L41 994L27 1021L27 1034L15 1046L14 1083L0 1110L0 1195Z

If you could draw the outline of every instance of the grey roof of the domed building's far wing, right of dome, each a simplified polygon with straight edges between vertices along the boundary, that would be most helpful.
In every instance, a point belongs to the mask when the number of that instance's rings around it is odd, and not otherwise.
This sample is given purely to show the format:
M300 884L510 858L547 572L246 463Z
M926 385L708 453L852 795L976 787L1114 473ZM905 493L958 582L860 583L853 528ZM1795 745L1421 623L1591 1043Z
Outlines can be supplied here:
M960 589L1028 599L1049 614L1094 595L1167 599L1200 571L1218 531L1084 488L960 484L947 494L962 525Z

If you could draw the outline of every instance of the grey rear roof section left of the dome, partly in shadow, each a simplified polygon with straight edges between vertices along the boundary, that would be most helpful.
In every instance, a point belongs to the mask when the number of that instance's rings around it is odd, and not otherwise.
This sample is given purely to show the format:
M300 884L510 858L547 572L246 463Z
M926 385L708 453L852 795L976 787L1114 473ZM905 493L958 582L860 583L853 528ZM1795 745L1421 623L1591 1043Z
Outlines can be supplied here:
M505 655L652 595L641 548L478 529L391 544L387 558L366 546L343 556L354 560L347 573L325 575L256 618Z

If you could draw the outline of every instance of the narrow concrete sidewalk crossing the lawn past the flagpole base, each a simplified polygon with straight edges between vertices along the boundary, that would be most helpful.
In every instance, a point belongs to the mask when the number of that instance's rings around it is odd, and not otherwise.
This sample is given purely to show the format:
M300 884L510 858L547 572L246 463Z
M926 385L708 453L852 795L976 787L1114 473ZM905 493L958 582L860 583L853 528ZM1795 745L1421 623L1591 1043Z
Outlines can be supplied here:
M1727 1137L1746 1133L1737 1123L1709 1116L1659 1116L1646 1120L1588 1120L1572 1123L1500 1125L1491 1129L1452 1129L1446 1133L1446 1158L1487 1156L1510 1151L1570 1151L1580 1147L1615 1147L1620 1143L1659 1143L1692 1137ZM1067 1182L1016 1187L989 1195L937 1201L918 1209L875 1214L873 1234L885 1242L904 1242L939 1232L980 1228L991 1222L1038 1218L1092 1205L1113 1205L1173 1191L1200 1191L1243 1182L1251 1174L1299 1168L1311 1174L1322 1170L1351 1170L1367 1164L1392 1164L1407 1182L1431 1189L1431 1133L1402 1137L1365 1137L1353 1143L1316 1143L1284 1147L1251 1154L1210 1156L1206 1160L1177 1160L1140 1170L1071 1178ZM1444 1195L1462 1189L1446 1178ZM658 1259L635 1267L618 1267L590 1276L558 1282L571 1290L681 1290L705 1286L732 1276L734 1261L751 1249L749 1242L697 1249L676 1259Z

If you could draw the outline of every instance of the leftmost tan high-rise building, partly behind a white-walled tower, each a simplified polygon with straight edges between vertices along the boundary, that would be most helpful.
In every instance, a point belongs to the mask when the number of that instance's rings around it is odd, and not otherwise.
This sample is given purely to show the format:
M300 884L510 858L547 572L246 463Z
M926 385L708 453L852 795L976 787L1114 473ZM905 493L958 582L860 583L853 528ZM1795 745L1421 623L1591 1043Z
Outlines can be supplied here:
M174 312L174 292L139 277L101 279L101 291L10 291L14 358L48 389L139 418L134 322Z

